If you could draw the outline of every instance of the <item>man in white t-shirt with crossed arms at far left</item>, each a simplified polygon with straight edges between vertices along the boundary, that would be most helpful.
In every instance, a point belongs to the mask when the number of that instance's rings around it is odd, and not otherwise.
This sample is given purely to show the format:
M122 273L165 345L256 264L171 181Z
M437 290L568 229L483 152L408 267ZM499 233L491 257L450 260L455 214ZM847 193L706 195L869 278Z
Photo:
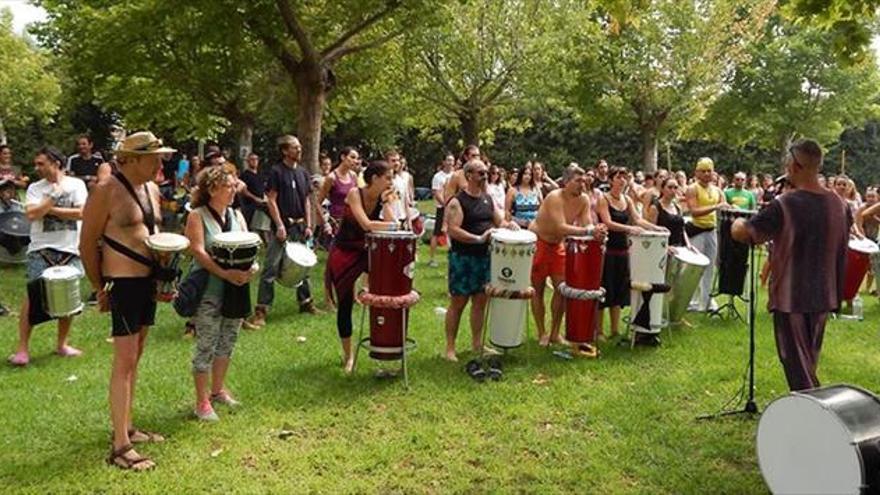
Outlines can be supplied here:
M18 317L18 348L9 357L15 366L30 362L28 344L35 325L49 321L39 283L43 271L51 266L70 265L82 271L79 258L80 227L83 205L88 192L82 181L68 177L63 170L64 155L55 148L42 148L34 157L34 169L40 180L27 189L25 213L30 220L31 243L27 251L27 297ZM67 344L73 317L58 320L55 352L61 357L82 354Z

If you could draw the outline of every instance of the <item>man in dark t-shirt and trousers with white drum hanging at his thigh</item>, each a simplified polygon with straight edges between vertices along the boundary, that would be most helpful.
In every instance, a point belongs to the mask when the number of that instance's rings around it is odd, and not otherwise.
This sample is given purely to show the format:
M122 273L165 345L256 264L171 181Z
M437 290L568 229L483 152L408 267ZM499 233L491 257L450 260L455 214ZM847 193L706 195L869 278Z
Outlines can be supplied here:
M278 150L281 152L281 163L272 167L266 182L266 206L274 223L275 235L270 238L266 248L266 263L260 276L254 315L245 321L245 326L249 328L266 324L266 315L275 299L273 283L278 277L285 244L287 241L306 241L312 237L314 228L310 201L311 178L299 164L302 145L295 136L282 136L278 138ZM318 312L312 303L308 279L297 288L296 299L300 313Z

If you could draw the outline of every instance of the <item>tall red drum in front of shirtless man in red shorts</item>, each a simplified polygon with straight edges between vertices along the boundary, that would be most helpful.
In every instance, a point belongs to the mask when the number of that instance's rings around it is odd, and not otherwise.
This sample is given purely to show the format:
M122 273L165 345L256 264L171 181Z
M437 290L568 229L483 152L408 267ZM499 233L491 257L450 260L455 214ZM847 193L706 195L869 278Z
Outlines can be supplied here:
M598 290L602 286L605 243L593 236L565 238L565 285L578 290ZM573 344L592 344L596 340L599 301L566 298L565 340Z

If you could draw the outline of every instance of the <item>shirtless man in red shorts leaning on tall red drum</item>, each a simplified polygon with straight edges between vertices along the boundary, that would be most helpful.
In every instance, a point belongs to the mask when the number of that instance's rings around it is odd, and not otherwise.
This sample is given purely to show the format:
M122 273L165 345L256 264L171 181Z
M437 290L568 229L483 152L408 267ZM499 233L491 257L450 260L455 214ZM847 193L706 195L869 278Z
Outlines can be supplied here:
M538 343L547 346L550 342L562 344L559 336L565 301L559 291L553 292L550 301L551 326L547 335L544 326L544 287L547 277L553 287L559 287L565 280L565 244L567 236L593 234L602 241L608 229L604 225L593 226L590 214L590 198L586 191L586 172L578 165L569 165L562 174L565 186L552 191L538 210L538 217L532 222L530 230L538 236L538 247L532 262L532 312L538 327Z

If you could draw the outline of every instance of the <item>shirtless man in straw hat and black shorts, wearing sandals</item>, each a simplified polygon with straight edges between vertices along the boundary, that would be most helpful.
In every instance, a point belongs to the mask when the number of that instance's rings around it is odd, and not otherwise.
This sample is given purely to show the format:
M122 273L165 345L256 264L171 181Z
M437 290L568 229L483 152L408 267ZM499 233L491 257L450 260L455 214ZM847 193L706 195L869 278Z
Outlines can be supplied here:
M138 362L156 316L156 280L144 244L161 214L159 188L151 180L162 166L162 154L174 151L149 132L126 137L116 150L118 171L95 186L83 212L80 252L86 276L98 293L100 310L110 311L113 318L113 447L108 461L135 471L155 464L132 444L164 440L134 428L131 409Z

